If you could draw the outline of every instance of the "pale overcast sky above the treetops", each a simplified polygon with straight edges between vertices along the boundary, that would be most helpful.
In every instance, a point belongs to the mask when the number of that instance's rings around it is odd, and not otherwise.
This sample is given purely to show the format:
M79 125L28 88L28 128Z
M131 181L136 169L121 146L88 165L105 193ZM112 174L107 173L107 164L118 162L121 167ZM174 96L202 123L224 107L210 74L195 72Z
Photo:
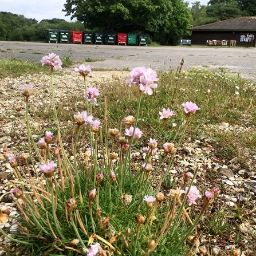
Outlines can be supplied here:
M188 0L185 0L188 1ZM201 5L207 5L209 0L201 0ZM195 1L189 0L192 3ZM70 21L70 17L65 17L64 3L66 0L0 0L0 11L7 11L14 14L22 14L26 18L42 19L65 19Z

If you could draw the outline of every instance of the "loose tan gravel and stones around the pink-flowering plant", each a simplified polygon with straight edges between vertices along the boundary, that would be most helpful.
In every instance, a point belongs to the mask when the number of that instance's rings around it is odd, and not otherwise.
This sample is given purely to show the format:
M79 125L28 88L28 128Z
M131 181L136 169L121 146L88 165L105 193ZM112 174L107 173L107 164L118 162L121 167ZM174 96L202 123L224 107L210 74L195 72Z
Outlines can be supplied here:
M129 76L128 72L120 71L94 73L95 76L88 78L87 84L88 86L97 84L99 89L107 84L109 80L113 79L113 73L122 79ZM22 147L24 148L27 145L25 103L21 94L18 92L20 84L33 84L37 90L35 99L30 104L31 113L36 111L39 106L50 104L50 76L35 74L33 76L24 76L15 79L7 77L0 80L0 122L2 127L0 131L0 208L9 215L6 222L0 223L0 227L5 227L6 229L11 227L11 229L8 229L10 233L14 232L17 228L17 223L13 223L11 216L18 216L19 211L15 207L10 195L3 196L12 189L9 180L15 179L10 164L3 157L3 147L7 145L9 151L15 155ZM81 82L81 76L69 71L64 76L54 77L54 84L56 88L56 105L61 101L65 101L70 96L81 94L84 87ZM48 95L49 97L47 97ZM47 120L40 120L33 116L30 117L30 125L34 134L42 131L46 127L50 127ZM245 214L244 219L237 220L238 227L232 227L234 231L230 233L229 241L223 241L221 235L212 237L209 234L203 234L200 238L200 246L205 246L208 251L215 251L215 255L222 255L221 253L223 251L227 253L227 251L232 250L243 251L241 256L255 255L254 251L256 251L256 248L254 244L250 243L256 235L256 214L253 212L255 210L253 208L253 202L256 199L255 152L247 153L247 168L242 167L237 160L231 160L225 163L222 159L214 155L218 149L218 145L211 139L214 131L225 133L242 130L251 132L251 130L239 126L232 127L227 123L212 125L211 127L207 127L207 129L210 131L209 136L188 139L179 148L174 168L171 171L172 177L180 180L184 172L191 172L192 175L196 166L200 166L198 178L196 178L197 186L200 188L222 187L222 194L208 211L209 216L212 216L211 212L221 209L223 211L237 211L238 204L247 207L247 210L243 213ZM37 139L35 138L35 140ZM85 152L85 148L85 145L81 146L80 152ZM133 158L135 161L141 162L143 152L133 152ZM157 158L154 159L155 164L157 164L157 161ZM223 220L223 225L225 225L225 221ZM240 243L235 241L238 231L244 236L243 241ZM8 239L4 238L3 235L0 236L0 255L5 255L5 244L7 242L9 242ZM199 249L201 251L204 250L203 247L199 247ZM198 253L198 255L204 254Z

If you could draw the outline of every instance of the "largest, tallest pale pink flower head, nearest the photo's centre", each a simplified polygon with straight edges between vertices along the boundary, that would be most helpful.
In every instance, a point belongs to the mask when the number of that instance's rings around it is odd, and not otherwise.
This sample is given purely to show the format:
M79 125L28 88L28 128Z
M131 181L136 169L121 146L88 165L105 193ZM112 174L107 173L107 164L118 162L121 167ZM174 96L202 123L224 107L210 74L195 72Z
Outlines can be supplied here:
M130 75L131 77L127 78L126 82L128 84L137 84L145 94L152 95L152 88L157 88L157 84L154 82L158 81L159 78L157 78L156 72L151 68L146 69L144 66L138 66L130 72Z

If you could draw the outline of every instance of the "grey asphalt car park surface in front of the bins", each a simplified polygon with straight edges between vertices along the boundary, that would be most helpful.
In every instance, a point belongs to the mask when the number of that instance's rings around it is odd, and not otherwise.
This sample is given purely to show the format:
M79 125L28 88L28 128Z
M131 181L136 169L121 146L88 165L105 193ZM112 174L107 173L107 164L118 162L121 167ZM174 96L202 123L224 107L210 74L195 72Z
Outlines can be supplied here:
M40 62L49 53L71 56L91 68L129 69L145 66L156 70L176 70L184 58L183 69L220 70L256 81L256 48L193 46L80 45L0 41L0 59L15 57ZM85 58L104 61L85 62Z

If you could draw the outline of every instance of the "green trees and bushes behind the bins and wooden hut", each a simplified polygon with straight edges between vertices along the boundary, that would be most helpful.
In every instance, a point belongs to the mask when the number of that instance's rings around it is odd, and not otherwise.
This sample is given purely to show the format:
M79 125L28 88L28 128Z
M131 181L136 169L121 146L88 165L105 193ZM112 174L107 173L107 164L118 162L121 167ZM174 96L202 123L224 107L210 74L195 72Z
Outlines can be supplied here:
M256 15L255 0L210 0L207 5L183 0L66 0L64 9L75 22L26 18L0 12L0 40L46 41L46 29L149 34L162 45L189 39L190 27Z

